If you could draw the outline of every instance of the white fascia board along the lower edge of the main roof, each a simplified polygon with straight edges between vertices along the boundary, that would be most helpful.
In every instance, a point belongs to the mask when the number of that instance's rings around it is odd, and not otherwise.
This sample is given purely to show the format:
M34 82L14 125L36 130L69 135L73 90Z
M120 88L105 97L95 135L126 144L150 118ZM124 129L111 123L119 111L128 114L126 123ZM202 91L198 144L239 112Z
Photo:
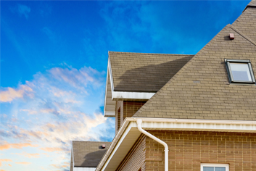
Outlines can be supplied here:
M110 148L96 170L105 170L115 151L122 145L131 128L137 128L136 120L142 120L141 127L146 130L197 130L218 132L256 133L256 121L243 120L187 120L167 118L126 117L122 127L113 139ZM127 126L128 125L128 126Z

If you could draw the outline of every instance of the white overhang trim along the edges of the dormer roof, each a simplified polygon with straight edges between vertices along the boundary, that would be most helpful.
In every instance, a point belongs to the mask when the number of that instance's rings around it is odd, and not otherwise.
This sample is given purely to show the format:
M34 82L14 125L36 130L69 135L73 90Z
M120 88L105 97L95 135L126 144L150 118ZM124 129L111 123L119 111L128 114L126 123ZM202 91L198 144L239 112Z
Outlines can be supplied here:
M104 101L104 117L115 117L115 103L118 100L134 100L143 101L148 100L155 93L152 92L126 92L126 91L114 91L114 81L112 77L112 69L110 63L110 57L107 63L107 80L105 90Z

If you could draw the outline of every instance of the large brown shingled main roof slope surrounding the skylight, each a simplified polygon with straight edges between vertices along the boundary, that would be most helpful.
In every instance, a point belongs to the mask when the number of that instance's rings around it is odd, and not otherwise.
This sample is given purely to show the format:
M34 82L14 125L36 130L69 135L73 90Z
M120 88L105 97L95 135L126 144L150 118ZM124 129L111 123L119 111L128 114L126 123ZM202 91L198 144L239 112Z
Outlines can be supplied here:
M255 17L256 8L247 8L244 14L247 10ZM256 25L256 20L252 22L243 22L243 28ZM256 30L243 31L231 25L223 28L133 117L256 120L255 85L230 84L224 63L224 59L250 59L256 70ZM229 33L235 34L234 40Z

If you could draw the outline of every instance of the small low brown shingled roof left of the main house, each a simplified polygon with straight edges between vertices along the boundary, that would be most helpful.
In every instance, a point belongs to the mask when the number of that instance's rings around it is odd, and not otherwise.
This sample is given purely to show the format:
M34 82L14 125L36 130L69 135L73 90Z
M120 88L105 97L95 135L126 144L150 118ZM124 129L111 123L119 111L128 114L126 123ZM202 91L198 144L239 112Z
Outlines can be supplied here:
M111 142L102 141L73 141L72 159L75 167L97 167ZM102 149L102 144L106 148ZM71 161L71 163L73 162Z

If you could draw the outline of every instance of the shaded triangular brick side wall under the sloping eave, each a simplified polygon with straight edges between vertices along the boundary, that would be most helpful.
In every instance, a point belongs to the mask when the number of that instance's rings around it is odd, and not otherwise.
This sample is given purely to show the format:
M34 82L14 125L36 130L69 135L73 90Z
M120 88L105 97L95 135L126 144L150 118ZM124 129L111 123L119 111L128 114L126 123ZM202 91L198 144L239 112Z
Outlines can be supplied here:
M145 171L145 148L146 148L146 135L141 135L131 150L126 155L123 162L117 168L118 171Z

